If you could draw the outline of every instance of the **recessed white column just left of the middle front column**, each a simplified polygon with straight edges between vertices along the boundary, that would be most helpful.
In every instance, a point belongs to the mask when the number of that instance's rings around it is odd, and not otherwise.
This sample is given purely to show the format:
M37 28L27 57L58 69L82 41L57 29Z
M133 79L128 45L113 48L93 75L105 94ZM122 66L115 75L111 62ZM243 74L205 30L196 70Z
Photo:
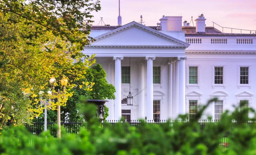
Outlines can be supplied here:
M139 85L138 85L138 90L139 90L139 95L138 95L138 99L139 99L139 107L138 107L138 116L141 119L145 119L145 95L144 95L144 63L140 62L139 63L139 73L138 73L139 77L138 77L138 81L139 81Z

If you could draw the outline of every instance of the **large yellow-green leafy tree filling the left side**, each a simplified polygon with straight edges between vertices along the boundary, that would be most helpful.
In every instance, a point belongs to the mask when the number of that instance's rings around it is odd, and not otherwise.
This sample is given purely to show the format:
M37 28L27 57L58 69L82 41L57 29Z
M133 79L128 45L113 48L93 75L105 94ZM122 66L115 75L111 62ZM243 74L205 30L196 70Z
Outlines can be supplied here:
M52 96L59 98L52 110L65 106L73 87L92 90L85 75L93 56L81 49L90 43L90 13L99 9L99 1L92 0L0 2L0 129L8 120L16 125L40 116L39 100L49 98L51 77L57 80L53 93L61 88L60 79L69 79L66 98Z

